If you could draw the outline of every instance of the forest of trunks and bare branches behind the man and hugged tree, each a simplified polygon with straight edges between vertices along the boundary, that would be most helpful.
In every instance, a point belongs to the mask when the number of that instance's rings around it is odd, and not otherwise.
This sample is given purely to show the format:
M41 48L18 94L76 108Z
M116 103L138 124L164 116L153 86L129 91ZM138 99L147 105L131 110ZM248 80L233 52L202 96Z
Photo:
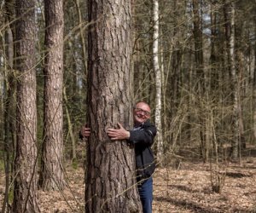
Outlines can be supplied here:
M79 0L2 1L0 12L0 200L5 212L17 199L19 212L31 188L35 198L38 186L61 191L63 168L84 166L78 133L88 117L93 23ZM212 191L221 193L228 164L254 161L256 2L133 1L131 21L130 104L152 108L159 168L211 165ZM24 183L35 170L39 183Z

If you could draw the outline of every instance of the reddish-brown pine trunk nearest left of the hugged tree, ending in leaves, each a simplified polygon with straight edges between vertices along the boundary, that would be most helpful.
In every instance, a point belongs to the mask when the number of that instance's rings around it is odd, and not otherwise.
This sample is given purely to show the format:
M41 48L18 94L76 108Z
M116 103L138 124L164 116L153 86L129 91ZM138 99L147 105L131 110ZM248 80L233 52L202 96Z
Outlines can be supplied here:
M65 186L63 153L63 2L45 0L44 141L40 185L45 190Z

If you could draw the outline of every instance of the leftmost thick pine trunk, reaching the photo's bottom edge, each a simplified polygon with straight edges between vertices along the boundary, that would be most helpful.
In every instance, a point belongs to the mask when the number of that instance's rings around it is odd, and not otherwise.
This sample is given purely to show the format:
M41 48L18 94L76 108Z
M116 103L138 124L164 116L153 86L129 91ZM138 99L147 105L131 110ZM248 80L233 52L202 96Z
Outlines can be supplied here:
M38 212L35 2L16 1L17 145L13 212Z

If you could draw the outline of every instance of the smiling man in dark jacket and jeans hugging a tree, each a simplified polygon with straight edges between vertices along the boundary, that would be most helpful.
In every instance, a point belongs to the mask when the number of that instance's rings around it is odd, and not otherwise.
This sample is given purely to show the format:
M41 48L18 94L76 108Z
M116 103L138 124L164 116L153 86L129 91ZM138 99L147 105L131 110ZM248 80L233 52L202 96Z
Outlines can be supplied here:
M111 140L127 140L135 147L137 183L140 199L143 204L143 213L152 212L153 201L153 179L154 154L151 146L154 143L156 128L150 124L150 107L146 102L137 102L133 108L134 128L125 130L121 124L119 129L108 129L107 134ZM90 128L83 127L80 131L80 138L90 135Z

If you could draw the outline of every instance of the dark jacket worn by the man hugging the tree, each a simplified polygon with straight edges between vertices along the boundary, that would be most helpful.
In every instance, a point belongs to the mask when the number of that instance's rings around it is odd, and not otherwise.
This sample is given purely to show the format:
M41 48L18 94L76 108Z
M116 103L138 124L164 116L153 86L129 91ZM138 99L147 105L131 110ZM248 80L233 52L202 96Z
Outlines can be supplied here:
M149 121L130 131L129 143L135 146L137 180L148 178L154 173L155 162L151 146L154 143L156 127Z

